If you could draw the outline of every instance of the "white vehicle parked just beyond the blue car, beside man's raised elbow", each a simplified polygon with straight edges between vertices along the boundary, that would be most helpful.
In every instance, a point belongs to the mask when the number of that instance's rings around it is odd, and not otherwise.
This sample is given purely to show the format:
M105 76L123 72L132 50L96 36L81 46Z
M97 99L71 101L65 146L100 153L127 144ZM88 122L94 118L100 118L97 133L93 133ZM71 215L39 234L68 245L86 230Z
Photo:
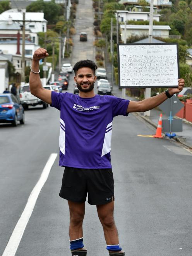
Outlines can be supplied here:
M19 97L24 110L27 110L29 106L43 105L43 108L47 108L48 104L40 100L30 92L29 83L24 84L19 89Z

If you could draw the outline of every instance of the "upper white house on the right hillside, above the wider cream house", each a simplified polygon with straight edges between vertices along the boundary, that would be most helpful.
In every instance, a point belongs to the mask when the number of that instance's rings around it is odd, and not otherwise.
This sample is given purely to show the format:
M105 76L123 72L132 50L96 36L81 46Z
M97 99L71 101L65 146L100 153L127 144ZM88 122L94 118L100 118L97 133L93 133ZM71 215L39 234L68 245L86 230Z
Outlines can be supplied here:
M125 22L125 21L149 21L150 12L141 12L141 11L126 11L126 10L120 10L116 11L115 13L116 19L118 15L118 21L119 22ZM160 14L154 14L153 13L153 20L159 21Z

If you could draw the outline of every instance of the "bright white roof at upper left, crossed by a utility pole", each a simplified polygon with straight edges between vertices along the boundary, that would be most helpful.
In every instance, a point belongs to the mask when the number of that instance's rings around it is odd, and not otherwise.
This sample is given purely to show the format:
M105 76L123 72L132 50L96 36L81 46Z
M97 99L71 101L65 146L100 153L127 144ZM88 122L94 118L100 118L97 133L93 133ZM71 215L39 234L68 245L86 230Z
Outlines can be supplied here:
M11 12L10 10L7 10L0 14L0 21L8 21L9 16L12 18L12 20L17 20L17 21L23 20L22 12ZM46 21L46 19L44 19L43 12L26 12L25 19L26 21L39 21L39 22Z

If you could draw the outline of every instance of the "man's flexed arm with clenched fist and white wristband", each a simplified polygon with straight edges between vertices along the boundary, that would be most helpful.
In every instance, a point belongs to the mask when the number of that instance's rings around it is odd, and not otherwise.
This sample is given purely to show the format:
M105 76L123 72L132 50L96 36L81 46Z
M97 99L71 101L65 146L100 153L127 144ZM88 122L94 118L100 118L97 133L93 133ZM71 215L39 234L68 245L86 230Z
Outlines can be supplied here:
M31 94L45 101L46 103L51 104L51 91L43 88L39 76L39 60L46 58L47 56L47 50L43 48L38 48L34 52L29 76L29 86Z

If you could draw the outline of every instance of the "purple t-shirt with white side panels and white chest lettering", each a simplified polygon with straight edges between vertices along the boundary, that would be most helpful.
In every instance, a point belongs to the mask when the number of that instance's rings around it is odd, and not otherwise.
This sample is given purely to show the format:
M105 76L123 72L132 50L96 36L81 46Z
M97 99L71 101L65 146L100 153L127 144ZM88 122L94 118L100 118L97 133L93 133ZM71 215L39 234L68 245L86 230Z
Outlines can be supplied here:
M96 94L81 98L72 93L51 92L51 107L60 110L60 166L111 168L113 117L127 116L129 100Z

